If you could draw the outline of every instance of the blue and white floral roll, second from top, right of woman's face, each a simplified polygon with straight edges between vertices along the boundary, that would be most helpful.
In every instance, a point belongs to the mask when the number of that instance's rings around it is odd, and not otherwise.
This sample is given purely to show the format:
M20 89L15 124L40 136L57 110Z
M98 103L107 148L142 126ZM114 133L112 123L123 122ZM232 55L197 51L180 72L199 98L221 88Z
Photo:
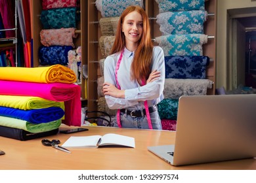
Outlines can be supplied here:
M207 12L205 10L162 12L156 18L163 35L203 34L203 23L207 19Z

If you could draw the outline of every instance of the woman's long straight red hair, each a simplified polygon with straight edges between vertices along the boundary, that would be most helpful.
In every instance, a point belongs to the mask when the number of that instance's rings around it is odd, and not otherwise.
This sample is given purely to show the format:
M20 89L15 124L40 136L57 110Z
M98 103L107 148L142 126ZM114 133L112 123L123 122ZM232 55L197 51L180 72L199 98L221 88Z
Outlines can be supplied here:
M142 37L138 42L138 47L135 50L133 63L131 64L131 79L137 80L141 85L141 80L146 80L151 73L153 54L153 43L150 35L150 24L148 20L148 15L142 7L129 6L123 11L119 18L116 31L116 39L114 41L110 54L121 52L121 50L125 48L125 35L121 31L121 29L125 16L133 11L137 11L141 14L143 20L143 31Z

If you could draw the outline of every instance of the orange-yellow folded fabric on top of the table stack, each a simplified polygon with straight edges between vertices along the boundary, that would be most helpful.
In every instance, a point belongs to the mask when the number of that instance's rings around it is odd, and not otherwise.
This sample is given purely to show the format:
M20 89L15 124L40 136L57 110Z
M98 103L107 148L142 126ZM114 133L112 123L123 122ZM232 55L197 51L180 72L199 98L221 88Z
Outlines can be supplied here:
M25 82L64 82L74 83L77 78L74 71L63 65L48 67L0 67L0 80L15 80Z

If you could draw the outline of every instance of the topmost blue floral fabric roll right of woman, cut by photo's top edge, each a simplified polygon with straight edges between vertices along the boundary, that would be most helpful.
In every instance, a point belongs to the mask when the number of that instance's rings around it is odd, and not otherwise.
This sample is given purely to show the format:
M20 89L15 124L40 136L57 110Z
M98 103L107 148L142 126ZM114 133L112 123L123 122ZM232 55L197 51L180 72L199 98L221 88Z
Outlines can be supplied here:
M159 12L205 10L205 0L156 0Z

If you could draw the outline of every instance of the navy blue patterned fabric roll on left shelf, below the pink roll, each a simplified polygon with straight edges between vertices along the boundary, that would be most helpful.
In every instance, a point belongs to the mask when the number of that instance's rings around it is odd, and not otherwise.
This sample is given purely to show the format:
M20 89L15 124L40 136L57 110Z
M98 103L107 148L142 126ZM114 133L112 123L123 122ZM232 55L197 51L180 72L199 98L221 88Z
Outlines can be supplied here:
M41 46L39 47L39 63L41 65L68 65L68 51L72 46Z

